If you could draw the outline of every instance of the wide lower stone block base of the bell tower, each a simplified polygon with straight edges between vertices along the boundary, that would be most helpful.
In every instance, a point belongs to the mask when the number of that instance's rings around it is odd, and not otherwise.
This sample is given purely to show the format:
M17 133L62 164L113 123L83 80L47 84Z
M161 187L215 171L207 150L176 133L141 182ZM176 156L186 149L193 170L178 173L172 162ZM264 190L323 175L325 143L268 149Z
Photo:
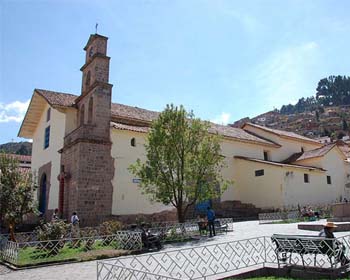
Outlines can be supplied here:
M98 225L112 211L114 163L110 143L80 141L64 151L64 217L77 212L82 226Z

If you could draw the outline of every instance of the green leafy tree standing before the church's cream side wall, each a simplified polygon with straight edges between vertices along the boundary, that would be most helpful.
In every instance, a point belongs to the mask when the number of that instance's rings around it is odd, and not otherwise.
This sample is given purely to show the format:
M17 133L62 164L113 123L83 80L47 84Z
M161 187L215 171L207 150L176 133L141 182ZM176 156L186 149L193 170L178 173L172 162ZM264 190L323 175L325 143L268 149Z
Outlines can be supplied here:
M138 159L129 167L151 201L177 209L179 222L191 205L219 197L230 184L220 173L225 166L220 137L209 130L208 122L182 106L167 105L152 123L145 144L146 161Z

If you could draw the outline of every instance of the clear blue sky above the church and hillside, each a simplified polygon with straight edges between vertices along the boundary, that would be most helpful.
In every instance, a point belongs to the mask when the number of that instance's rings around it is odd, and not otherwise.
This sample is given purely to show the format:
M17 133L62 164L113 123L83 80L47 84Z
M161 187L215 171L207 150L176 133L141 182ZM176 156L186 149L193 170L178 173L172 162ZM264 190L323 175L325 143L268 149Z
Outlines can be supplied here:
M350 74L350 2L0 0L0 143L34 88L80 93L84 47L109 37L113 102L183 104L218 123L256 116Z

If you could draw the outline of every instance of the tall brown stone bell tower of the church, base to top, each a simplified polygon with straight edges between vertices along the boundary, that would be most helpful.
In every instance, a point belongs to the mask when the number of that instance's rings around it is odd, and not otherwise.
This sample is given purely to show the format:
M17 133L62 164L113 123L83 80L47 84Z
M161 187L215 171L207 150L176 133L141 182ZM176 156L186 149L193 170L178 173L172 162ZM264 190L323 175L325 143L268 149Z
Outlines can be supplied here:
M92 34L84 48L81 95L75 101L76 128L65 136L62 149L63 216L69 218L76 211L82 225L96 225L112 211L112 85L108 83L107 40Z

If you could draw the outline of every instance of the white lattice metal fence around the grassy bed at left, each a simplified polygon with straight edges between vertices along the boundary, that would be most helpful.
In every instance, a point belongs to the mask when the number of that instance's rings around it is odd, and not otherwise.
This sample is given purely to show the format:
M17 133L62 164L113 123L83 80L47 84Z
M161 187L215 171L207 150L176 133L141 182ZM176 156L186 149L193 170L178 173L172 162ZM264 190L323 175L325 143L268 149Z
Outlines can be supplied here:
M113 235L30 242L6 240L1 246L0 254L3 261L24 266L70 260L80 252L106 249L141 250L141 233L118 231Z

